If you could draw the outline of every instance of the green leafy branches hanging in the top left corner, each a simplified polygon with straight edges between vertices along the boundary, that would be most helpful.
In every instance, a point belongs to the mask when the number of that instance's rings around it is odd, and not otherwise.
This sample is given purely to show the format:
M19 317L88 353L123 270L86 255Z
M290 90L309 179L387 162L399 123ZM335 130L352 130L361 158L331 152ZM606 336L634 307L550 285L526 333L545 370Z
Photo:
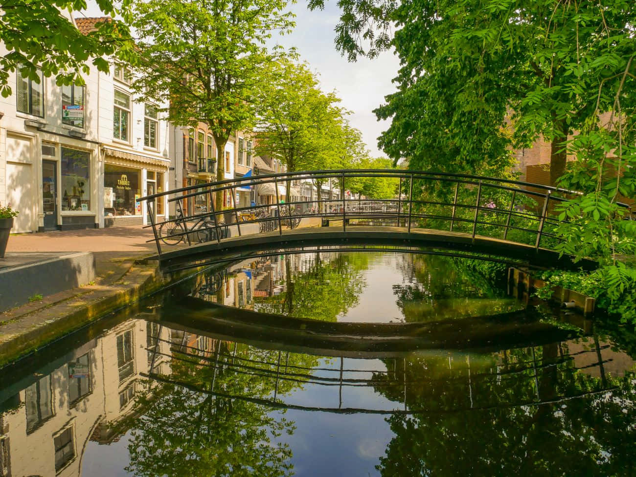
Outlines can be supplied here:
M97 2L104 15L129 20L130 0ZM89 60L99 71L109 72L106 58L130 58L132 41L127 24L110 19L84 35L70 20L69 13L86 8L84 0L3 0L0 3L0 43L8 53L0 57L0 93L11 94L9 74L18 69L25 77L39 82L43 76L56 76L57 84L84 84ZM65 12L66 11L66 12Z

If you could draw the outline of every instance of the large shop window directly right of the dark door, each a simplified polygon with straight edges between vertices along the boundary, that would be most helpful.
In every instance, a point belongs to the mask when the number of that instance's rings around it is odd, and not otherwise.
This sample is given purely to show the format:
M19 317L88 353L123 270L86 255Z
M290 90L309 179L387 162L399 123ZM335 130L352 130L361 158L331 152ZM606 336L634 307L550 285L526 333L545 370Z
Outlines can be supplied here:
M62 210L90 210L90 152L62 147Z

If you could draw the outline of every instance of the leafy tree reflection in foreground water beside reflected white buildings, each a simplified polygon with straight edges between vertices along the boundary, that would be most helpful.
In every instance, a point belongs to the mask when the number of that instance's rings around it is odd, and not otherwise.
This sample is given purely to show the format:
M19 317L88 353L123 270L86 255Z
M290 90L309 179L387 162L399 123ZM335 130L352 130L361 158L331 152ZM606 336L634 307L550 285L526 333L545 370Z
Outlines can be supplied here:
M298 389L298 382L272 377L274 366L317 364L317 358L214 341L208 349L174 347L172 382L141 398L144 414L132 424L130 466L139 476L253 475L292 473L291 450L277 442L294 423L270 415L267 406L219 394L266 398Z

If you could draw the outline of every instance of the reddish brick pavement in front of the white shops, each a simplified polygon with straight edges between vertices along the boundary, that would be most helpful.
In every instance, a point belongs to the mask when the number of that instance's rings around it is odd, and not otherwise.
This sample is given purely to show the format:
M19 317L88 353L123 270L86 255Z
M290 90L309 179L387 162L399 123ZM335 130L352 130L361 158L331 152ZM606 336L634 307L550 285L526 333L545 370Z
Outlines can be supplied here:
M82 229L64 232L39 232L11 235L7 252L119 252L124 255L148 255L156 252L152 229L141 225Z

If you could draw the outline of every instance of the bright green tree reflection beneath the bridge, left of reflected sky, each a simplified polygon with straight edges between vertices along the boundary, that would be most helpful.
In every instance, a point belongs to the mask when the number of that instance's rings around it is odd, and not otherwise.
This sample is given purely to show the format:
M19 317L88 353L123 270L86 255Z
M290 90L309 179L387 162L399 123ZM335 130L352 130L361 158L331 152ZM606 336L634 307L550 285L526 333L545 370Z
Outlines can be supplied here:
M324 255L302 255L302 260L310 260L304 271L293 269L287 255L284 290L273 297L254 299L260 304L259 311L336 321L338 315L356 306L366 286L363 271L368 268L368 255L338 253L328 259Z

